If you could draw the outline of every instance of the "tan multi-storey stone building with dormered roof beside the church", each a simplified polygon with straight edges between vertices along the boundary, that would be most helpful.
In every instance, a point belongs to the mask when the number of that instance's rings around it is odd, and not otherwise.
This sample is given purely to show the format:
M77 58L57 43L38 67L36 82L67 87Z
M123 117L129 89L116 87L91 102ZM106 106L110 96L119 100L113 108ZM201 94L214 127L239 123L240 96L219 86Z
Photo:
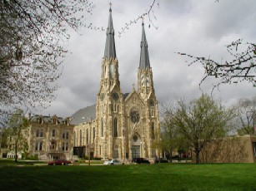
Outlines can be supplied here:
M34 115L28 127L29 155L41 160L73 159L73 125L56 115Z

